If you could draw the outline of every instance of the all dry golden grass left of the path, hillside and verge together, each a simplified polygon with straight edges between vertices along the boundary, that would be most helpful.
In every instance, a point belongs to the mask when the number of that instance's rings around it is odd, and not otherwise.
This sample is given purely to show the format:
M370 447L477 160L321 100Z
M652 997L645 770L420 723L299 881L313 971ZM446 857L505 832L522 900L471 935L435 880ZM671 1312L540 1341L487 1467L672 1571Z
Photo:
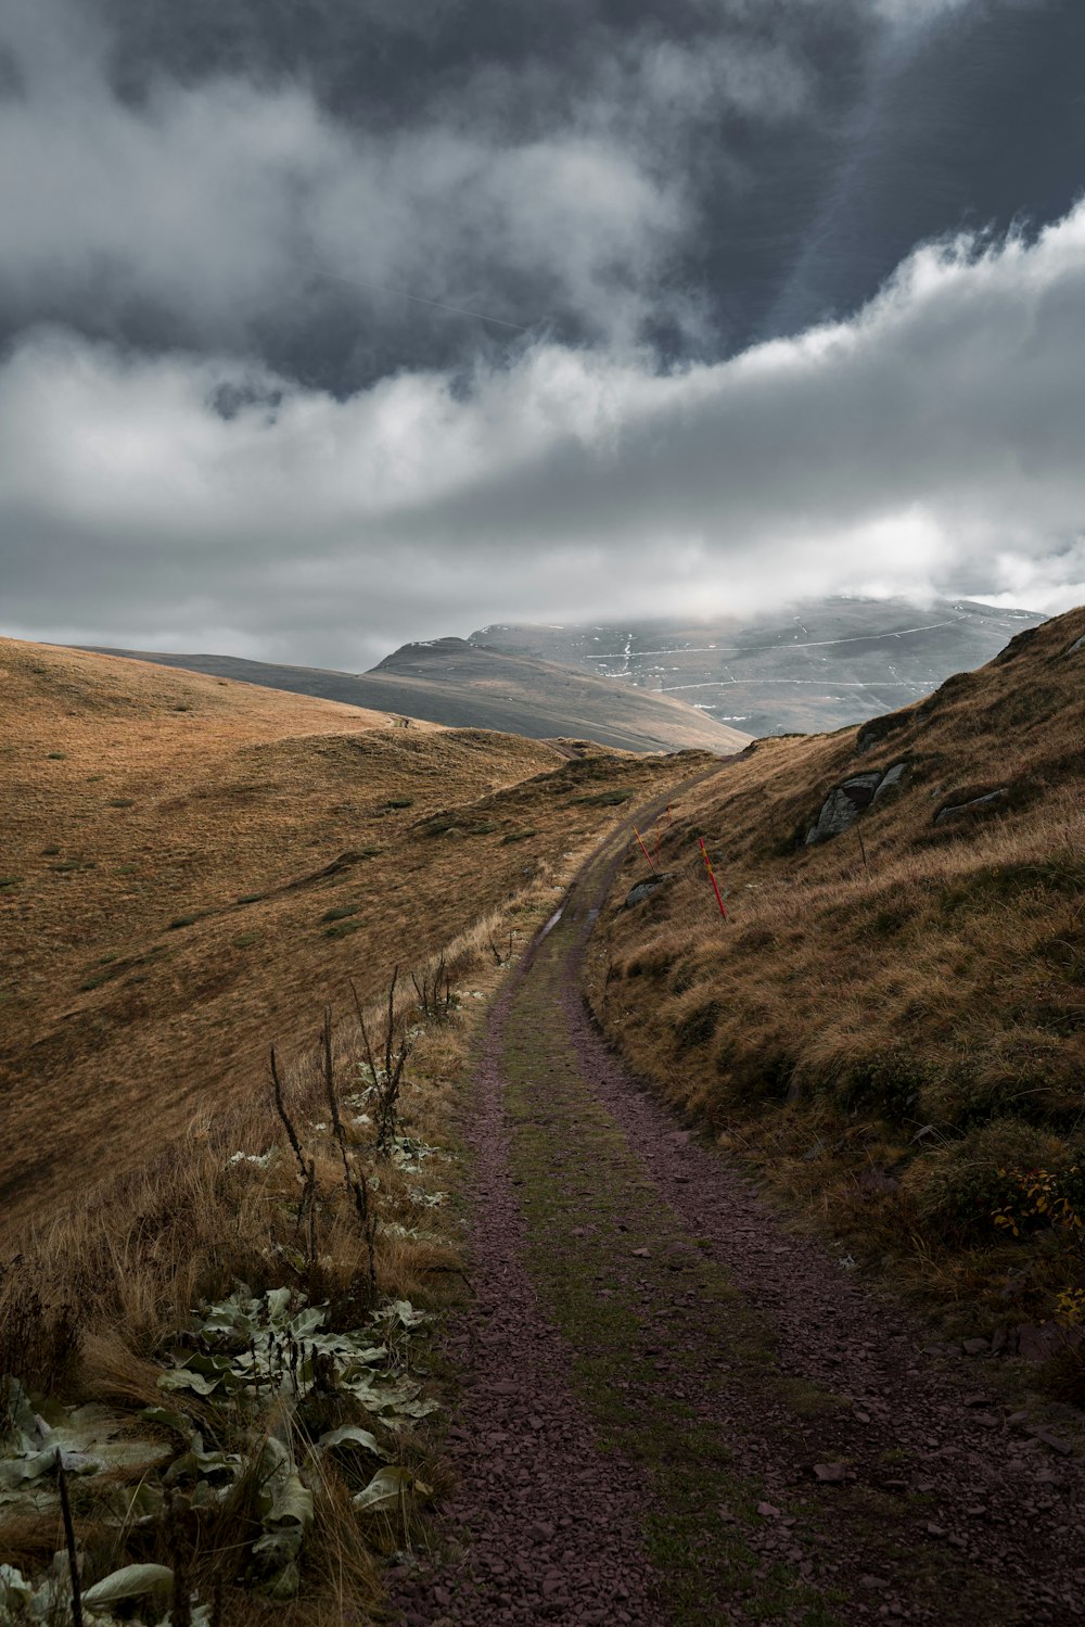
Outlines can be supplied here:
M73 1485L86 1580L151 1560L218 1599L223 1624L368 1620L379 1555L425 1541L415 1481L442 1485L410 1422L386 1427L333 1367L317 1380L312 1350L286 1399L252 1376L234 1399L174 1399L164 1368L221 1350L200 1316L237 1284L257 1298L286 1287L291 1308L324 1306L340 1334L374 1329L374 1303L434 1306L462 1290L439 1197L455 1184L452 1106L485 994L621 800L688 760L394 729L324 701L36 646L0 656L0 1427L10 1375L36 1406L104 1406L143 1443L138 1463ZM412 1038L399 1118L413 1141L386 1155L355 996L379 1058L395 965L392 1028ZM457 999L420 1023L410 973L433 989L438 965ZM303 1168L267 1079L270 1041ZM389 1370L410 1378L412 1334L395 1328L381 1321L363 1342L386 1342ZM268 1334L268 1365L270 1349ZM293 1349L301 1372L304 1347ZM187 1422L142 1417L163 1401ZM340 1424L377 1430L408 1472L395 1510L351 1507L379 1458L314 1446ZM179 1430L239 1455L221 1498L177 1468ZM270 1437L290 1443L314 1498L290 1583L268 1578L255 1547ZM179 1489L164 1497L171 1463ZM55 1511L5 1510L0 1560L41 1578L59 1541ZM272 1586L293 1596L262 1598Z

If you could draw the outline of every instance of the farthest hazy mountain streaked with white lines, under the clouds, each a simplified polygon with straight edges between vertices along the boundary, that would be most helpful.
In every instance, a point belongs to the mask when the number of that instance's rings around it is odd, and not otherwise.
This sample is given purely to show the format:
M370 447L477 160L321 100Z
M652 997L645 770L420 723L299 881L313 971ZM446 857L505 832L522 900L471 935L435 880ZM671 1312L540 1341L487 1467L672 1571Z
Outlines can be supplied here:
M753 735L820 732L908 706L981 667L1031 610L968 599L823 599L778 615L605 626L485 626L468 643L566 662L623 688L691 701Z

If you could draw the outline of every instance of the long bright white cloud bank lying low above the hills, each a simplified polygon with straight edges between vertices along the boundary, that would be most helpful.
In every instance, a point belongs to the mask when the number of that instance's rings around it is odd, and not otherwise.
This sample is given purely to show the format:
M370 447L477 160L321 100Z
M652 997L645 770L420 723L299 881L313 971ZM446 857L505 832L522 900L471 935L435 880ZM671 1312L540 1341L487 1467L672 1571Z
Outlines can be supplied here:
M351 664L468 623L859 582L1065 607L1082 335L1085 203L1035 242L921 249L854 321L673 374L540 343L468 387L400 374L340 402L39 332L0 373L8 625L233 628ZM223 382L255 397L229 420Z

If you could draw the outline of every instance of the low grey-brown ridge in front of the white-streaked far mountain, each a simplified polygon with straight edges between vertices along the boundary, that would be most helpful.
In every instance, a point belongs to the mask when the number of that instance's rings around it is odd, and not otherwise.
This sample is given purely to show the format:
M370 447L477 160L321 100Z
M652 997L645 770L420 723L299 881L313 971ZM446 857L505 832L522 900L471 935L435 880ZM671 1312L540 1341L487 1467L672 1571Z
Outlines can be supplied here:
M322 667L278 667L236 656L102 648L96 652L319 695L451 729L498 729L532 740L582 737L626 752L696 748L727 755L740 752L750 739L678 696L612 683L590 667L555 665L521 652L485 649L462 638L403 644L373 672L359 675Z

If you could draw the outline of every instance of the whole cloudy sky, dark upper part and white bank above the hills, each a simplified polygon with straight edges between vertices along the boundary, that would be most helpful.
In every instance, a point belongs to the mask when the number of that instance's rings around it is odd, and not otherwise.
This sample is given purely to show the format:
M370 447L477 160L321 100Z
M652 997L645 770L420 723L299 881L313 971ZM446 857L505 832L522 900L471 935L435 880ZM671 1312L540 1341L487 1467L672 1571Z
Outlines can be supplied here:
M0 631L1085 600L1082 0L0 0Z

